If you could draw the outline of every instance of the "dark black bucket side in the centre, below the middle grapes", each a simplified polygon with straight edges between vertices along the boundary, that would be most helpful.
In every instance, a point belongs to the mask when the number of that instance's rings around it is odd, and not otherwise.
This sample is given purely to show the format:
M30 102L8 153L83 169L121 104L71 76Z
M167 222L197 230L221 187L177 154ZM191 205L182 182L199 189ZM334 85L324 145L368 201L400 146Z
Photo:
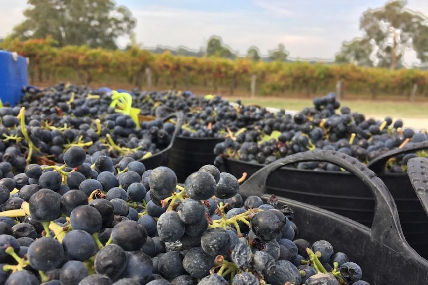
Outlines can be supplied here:
M214 164L214 147L221 138L190 138L177 136L171 148L169 167L183 183L193 172L206 164Z

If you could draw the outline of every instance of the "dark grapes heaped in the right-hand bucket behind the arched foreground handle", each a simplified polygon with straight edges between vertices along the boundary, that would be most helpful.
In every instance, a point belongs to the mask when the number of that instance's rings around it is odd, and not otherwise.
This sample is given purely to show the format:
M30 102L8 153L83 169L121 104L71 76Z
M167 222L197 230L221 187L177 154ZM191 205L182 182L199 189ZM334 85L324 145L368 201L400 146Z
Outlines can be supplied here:
M339 112L338 112L339 111ZM252 164L269 164L287 155L308 150L335 150L356 157L368 164L380 155L428 141L425 130L404 128L402 120L383 121L366 118L348 107L341 107L334 93L313 100L292 118L281 115L263 119L247 127L246 131L226 138L214 148L215 165L221 166L224 157ZM390 159L385 172L403 173L407 161L416 156L427 156L427 151L402 154ZM298 169L341 171L327 163L305 162Z

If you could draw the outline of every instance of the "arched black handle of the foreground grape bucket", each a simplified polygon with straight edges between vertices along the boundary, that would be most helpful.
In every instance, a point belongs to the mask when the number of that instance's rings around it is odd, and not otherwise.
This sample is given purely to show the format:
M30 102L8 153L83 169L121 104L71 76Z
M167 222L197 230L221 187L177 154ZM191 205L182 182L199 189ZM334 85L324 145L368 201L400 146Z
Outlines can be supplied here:
M375 200L374 218L370 235L388 247L401 252L403 246L409 247L401 229L398 211L385 183L376 174L344 153L329 150L306 151L289 155L274 161L253 175L241 185L240 191L245 195L263 195L266 193L266 180L272 171L285 165L308 161L322 161L335 164L357 176L371 190ZM285 197L286 198L286 197Z

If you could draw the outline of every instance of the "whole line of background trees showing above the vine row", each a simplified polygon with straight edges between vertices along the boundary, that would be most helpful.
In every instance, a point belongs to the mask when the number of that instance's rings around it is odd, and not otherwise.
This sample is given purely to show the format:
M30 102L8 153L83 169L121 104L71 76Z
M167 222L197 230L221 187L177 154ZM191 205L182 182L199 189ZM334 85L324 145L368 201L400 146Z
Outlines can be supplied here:
M50 36L58 47L86 45L114 50L118 49L119 37L129 36L133 43L126 49L135 45L133 30L137 20L127 7L116 6L113 0L28 0L27 3L25 20L13 28L9 37L25 41ZM428 66L427 17L409 10L406 5L406 0L393 0L383 7L366 10L359 23L363 35L344 41L334 63L398 69L404 67L404 55L413 50L421 63ZM191 57L292 61L284 43L269 50L267 56L262 56L256 46L251 46L245 55L239 55L216 35L209 38L206 47L197 51L160 46L150 51L155 54L170 51L172 55Z

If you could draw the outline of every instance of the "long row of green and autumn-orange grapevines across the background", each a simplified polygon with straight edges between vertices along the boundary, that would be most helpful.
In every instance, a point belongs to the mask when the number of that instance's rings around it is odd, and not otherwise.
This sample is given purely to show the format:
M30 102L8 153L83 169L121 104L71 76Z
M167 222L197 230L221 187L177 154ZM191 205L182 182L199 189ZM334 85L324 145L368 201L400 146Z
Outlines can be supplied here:
M31 84L75 80L82 84L126 83L148 90L152 86L154 89L209 87L214 92L227 88L230 95L240 89L259 96L300 93L310 97L334 91L341 82L345 95L364 93L372 99L385 95L407 100L428 98L428 71L418 69L184 57L169 52L153 54L138 47L124 51L86 46L58 48L51 38L23 42L6 39L0 48L29 58Z

